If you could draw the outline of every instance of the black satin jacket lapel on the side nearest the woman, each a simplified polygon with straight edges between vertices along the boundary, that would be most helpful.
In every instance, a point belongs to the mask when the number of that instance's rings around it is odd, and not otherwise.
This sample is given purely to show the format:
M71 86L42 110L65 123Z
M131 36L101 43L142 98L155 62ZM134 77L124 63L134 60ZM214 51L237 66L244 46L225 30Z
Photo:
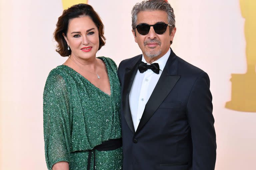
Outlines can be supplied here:
M126 120L126 123L128 127L131 129L133 133L135 133L133 121L132 121L132 115L130 110L130 102L129 102L129 94L132 88L134 77L138 70L138 61L141 61L141 56L136 58L130 65L130 67L127 67L125 69L125 76L124 76L124 87L123 87L123 97L122 97L122 103L123 103L123 113Z

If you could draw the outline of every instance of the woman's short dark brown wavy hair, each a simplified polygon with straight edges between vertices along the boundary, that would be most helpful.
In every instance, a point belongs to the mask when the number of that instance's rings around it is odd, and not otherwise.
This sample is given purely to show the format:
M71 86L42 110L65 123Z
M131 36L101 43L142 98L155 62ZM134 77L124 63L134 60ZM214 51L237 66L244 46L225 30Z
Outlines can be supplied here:
M88 4L73 5L63 11L62 15L58 18L56 29L53 33L55 41L58 43L56 51L63 57L71 54L71 49L67 49L68 44L63 37L63 33L67 36L68 24L71 19L82 16L89 16L97 26L99 31L99 49L105 45L106 38L104 37L104 25L92 6Z

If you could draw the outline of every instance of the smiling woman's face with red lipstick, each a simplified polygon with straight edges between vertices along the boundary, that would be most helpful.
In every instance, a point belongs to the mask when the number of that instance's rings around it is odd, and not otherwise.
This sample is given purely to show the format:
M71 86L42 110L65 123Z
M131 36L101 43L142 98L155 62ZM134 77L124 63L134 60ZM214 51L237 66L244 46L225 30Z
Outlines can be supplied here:
M89 16L69 21L66 42L70 46L72 57L89 59L96 57L99 49L99 31Z

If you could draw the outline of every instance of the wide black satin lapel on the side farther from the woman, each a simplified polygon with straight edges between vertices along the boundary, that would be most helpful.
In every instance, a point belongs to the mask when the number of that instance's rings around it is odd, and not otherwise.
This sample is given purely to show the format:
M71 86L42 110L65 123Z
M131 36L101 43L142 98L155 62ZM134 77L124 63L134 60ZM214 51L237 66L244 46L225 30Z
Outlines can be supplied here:
M174 54L174 53L172 52L171 55L172 54ZM170 57L171 57L171 55L170 55ZM143 115L141 117L140 123L136 130L136 133L138 133L138 131L140 131L141 128L153 116L155 111L158 109L158 107L161 105L161 103L164 101L164 99L167 97L167 95L173 89L173 87L175 86L177 81L180 79L180 75L177 75L177 67L178 67L177 62L178 61L176 60L177 59L176 55L173 57L174 57L173 59L168 59L169 62L167 61L166 66L156 84L156 87L154 88L154 90L145 106ZM175 61L172 63L173 60L175 60ZM170 67L174 67L174 68L172 68L172 70L171 70ZM176 75L173 75L173 73L175 73ZM172 75L170 75L170 74L172 74ZM136 133L135 133L135 135L136 135Z

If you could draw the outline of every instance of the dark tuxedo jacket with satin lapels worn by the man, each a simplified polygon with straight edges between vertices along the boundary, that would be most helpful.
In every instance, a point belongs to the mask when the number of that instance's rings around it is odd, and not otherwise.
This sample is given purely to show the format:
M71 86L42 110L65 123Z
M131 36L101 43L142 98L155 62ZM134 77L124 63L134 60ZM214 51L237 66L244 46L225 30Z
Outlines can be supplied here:
M135 132L129 93L141 58L123 60L118 68L123 170L214 170L216 135L208 75L171 50Z

